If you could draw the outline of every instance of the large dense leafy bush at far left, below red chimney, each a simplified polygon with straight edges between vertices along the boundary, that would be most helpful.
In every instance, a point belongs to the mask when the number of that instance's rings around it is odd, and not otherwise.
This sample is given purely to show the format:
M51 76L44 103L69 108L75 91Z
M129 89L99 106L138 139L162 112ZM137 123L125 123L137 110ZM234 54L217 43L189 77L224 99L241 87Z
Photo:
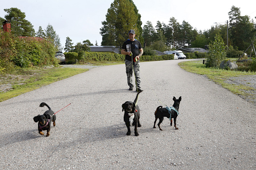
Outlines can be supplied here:
M58 66L55 51L54 45L46 40L22 39L0 31L0 72L16 67Z

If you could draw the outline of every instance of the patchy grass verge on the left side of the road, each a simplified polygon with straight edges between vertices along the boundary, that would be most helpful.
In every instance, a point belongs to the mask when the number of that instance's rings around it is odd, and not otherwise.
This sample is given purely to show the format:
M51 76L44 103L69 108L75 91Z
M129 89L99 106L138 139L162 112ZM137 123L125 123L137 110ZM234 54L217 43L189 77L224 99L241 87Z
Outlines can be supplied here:
M88 69L32 67L2 74L0 102L85 71Z

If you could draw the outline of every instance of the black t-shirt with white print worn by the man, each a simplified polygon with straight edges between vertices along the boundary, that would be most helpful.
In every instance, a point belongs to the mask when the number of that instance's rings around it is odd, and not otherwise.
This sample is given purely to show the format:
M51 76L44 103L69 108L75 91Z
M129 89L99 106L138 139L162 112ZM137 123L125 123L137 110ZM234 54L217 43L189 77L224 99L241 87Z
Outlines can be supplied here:
M130 39L126 40L122 46L122 49L125 49L125 51L132 51L132 57L129 55L125 55L126 60L133 60L139 53L142 46L140 44L140 41L135 39L134 41L131 41Z

